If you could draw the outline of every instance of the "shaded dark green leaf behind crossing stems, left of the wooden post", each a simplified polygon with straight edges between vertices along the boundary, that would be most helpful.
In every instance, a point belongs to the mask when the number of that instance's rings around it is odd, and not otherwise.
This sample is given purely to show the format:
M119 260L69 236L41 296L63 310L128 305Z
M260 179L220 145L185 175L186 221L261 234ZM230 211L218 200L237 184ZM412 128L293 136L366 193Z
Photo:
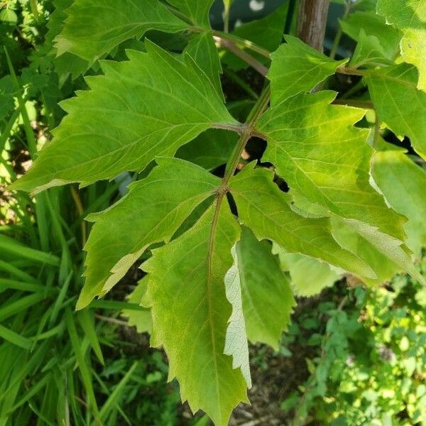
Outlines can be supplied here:
M244 40L249 40L252 43L265 48L269 52L273 52L278 46L283 43L283 33L285 25L285 16L287 16L288 2L286 1L283 6L278 7L272 13L261 19L256 19L248 23L243 23L237 26L232 35L236 35ZM246 49L245 46L239 46ZM250 52L254 58L267 65L270 61L256 52ZM238 58L234 53L225 51L222 56L222 62L226 64L231 70L239 71L249 67L247 62Z

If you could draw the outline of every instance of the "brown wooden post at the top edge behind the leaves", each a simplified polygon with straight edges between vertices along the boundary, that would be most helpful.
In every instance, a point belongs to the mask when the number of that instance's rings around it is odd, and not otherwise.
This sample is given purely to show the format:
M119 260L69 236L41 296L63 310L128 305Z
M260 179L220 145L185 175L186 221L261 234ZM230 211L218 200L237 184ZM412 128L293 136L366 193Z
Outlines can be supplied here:
M322 52L329 0L300 0L297 13L297 36Z

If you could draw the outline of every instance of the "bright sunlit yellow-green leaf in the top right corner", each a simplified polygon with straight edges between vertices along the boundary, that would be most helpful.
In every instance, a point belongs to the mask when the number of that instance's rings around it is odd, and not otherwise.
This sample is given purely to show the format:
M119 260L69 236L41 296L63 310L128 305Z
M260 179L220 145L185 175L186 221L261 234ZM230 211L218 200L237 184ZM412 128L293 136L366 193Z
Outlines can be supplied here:
M403 33L401 55L419 70L417 87L426 91L426 2L424 0L378 0L377 13Z

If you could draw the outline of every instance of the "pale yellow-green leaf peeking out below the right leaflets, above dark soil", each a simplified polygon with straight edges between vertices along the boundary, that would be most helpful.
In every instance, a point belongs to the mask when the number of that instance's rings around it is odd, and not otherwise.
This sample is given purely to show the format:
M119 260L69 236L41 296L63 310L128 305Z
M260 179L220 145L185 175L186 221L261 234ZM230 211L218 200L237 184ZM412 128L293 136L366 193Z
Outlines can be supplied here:
M283 271L290 273L293 293L297 296L317 295L323 288L331 287L342 275L336 268L317 259L285 253L278 244L273 245L273 253L278 254Z

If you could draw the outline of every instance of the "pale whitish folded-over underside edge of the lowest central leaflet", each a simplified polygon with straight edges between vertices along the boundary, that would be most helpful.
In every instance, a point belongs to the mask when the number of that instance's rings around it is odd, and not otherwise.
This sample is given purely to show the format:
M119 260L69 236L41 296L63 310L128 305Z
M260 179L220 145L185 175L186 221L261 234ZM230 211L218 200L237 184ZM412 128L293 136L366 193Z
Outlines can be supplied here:
M234 258L234 264L226 272L224 278L226 299L232 305L232 313L228 320L228 329L226 329L224 354L232 356L232 368L241 368L244 380L251 388L249 345L247 344L245 312L241 297L241 271L236 246L232 247L231 255Z

